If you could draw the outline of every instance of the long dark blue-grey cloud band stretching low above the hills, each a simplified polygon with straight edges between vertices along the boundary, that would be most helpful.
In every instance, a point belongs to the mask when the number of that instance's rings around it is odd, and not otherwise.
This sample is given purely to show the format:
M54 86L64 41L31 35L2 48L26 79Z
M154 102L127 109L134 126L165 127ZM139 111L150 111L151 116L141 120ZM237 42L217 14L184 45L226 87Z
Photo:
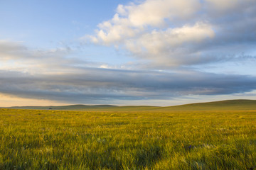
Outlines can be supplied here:
M31 75L1 71L0 75L1 93L69 103L235 94L256 89L256 77L202 72L168 73L88 68L81 69L76 74Z

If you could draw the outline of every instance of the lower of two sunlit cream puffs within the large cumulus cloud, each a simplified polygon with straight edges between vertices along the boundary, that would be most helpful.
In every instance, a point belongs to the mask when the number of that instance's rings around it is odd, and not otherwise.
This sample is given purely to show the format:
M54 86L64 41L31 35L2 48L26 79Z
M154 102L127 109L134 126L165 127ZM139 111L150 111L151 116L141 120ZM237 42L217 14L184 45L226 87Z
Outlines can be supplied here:
M194 26L153 30L139 38L126 40L125 43L129 51L140 57L154 59L157 56L158 59L175 59L176 53L183 52L183 48L188 48L189 43L201 42L213 38L214 35L211 26L206 23L196 23Z

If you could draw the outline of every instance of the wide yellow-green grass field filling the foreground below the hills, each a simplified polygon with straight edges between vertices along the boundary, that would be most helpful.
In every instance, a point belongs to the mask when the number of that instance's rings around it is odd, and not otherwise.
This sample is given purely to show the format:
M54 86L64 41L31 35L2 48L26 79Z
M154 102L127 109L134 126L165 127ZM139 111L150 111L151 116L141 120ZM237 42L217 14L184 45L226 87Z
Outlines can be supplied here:
M0 108L0 169L253 169L255 102L225 102Z

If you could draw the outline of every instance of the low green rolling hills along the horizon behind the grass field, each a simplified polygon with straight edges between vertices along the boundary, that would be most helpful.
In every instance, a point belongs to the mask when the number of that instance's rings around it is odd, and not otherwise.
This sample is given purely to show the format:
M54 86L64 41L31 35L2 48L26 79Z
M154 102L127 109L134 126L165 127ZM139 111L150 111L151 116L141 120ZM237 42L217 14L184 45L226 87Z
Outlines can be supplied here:
M47 109L70 111L218 111L256 110L256 100L228 100L207 103L191 103L180 106L113 106L113 105L70 105L70 106L14 106L21 109Z

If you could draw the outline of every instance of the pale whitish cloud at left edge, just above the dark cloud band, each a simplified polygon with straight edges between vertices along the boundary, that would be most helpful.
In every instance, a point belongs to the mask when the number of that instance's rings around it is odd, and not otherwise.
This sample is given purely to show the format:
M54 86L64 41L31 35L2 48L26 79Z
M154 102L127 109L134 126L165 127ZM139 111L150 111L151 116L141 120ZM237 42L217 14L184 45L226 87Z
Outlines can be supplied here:
M76 64L86 64L75 57L69 47L35 50L22 42L0 40L0 70L30 72L72 72Z

